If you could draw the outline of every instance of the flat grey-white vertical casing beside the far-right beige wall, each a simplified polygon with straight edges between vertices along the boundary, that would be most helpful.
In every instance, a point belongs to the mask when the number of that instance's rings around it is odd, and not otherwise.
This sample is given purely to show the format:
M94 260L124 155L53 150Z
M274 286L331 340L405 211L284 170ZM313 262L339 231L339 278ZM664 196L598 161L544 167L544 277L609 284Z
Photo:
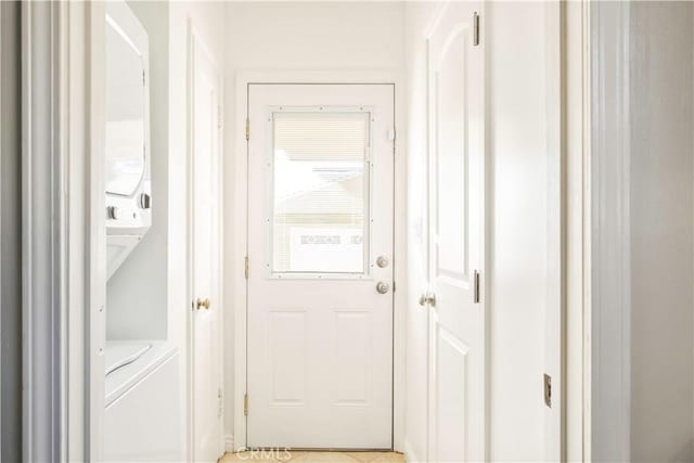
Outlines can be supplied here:
M630 461L628 2L591 8L590 458Z

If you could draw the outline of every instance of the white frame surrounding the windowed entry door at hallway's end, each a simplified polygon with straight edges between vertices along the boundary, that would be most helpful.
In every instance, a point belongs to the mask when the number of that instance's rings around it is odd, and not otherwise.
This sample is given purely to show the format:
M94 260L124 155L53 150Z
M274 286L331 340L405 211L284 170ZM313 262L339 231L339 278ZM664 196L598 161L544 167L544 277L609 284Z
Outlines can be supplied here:
M227 274L226 287L232 292L233 307L233 435L227 436L227 450L242 450L246 445L246 416L244 395L246 394L247 349L246 319L247 293L245 257L247 253L248 229L248 163L246 130L247 88L249 83L388 83L395 90L395 210L394 210L394 319L393 319L393 447L402 450L404 437L404 336L407 308L407 181L404 157L404 86L399 72L241 72L236 74L235 124L227 137L233 140L234 152L228 156L233 169L233 222L245 227L233 227L229 239L232 242L231 261L233 268ZM230 104L229 107L232 105ZM401 126L398 124L402 121ZM253 130L253 128L250 129ZM228 143L230 146L232 143ZM227 169L229 172L229 169ZM231 314L228 314L231 317Z

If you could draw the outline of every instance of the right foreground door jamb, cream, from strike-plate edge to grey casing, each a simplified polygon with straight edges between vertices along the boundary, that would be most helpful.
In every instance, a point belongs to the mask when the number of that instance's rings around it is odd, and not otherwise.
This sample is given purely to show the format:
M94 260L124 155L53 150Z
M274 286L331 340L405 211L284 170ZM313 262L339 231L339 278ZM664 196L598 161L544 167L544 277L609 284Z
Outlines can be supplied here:
M591 459L591 204L596 194L591 192L591 157L600 160L591 154L591 10L587 0L544 7L549 94L545 344L555 349L548 349L545 372L553 380L552 408L557 410L545 409L548 461ZM618 56L612 62L619 62ZM617 177L612 176L611 181Z

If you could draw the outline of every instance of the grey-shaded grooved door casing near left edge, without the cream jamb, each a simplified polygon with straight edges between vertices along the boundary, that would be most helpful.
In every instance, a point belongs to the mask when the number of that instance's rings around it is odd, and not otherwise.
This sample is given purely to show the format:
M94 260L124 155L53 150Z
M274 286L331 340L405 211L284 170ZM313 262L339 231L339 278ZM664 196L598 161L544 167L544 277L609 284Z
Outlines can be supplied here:
M60 8L22 5L23 459L62 461L66 420L65 159Z

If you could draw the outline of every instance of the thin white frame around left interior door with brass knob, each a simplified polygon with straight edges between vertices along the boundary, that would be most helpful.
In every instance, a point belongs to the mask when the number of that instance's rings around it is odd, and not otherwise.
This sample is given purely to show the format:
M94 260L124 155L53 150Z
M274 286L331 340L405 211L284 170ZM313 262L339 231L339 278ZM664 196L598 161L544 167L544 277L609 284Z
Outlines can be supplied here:
M224 143L223 143L223 137L224 137L224 131L223 131L223 118L222 118L222 107L223 107L223 98L224 98L224 87L223 87L223 74L219 72L220 66L219 63L215 60L215 55L213 53L209 52L209 48L207 47L207 44L205 43L202 35L197 31L197 29L195 28L195 26L193 25L191 18L188 18L188 34L187 34L187 53L188 53L188 62L187 62L187 131L188 131L188 137L187 137L187 142L188 142L188 146L187 146L187 169L188 169L188 178L187 178L187 293L188 293L188 300L191 301L191 308L193 305L193 300L196 297L194 294L194 288L193 288L193 223L194 223L194 218L193 218L193 192L194 192L194 188L193 188L193 181L194 181L194 171L193 171L193 155L194 155L194 139L193 139L193 118L195 117L193 114L193 108L194 108L194 95L195 95L195 56L198 53L205 53L207 55L207 59L209 60L210 64L213 65L213 67L215 68L215 72L217 73L217 78L218 78L218 88L219 88L219 94L218 100L217 100L217 105L218 105L218 151L217 151L217 166L219 167L218 171L217 171L217 184L218 184L218 191L217 191L217 214L219 216L219 219L217 221L217 235L218 235L218 258L219 258L219 262L217 266L217 282L218 282L218 286L216 290L216 294L210 295L210 297L213 297L213 300L217 299L218 303L216 304L220 310L219 310L219 320L218 320L218 336L217 336L217 348L219 349L219 364L217 365L217 372L219 375L219 389L223 391L224 387L223 387L223 383L224 383L224 369L223 369L223 358L224 358L224 331L223 331L223 326L224 326L224 291L223 291L223 253L224 253L224 239L223 239L223 226L224 226L224 220L223 220L223 210L224 210L224 205L223 205L223 149L224 149ZM194 311L190 310L188 312L188 317L187 317L187 355L188 355L188 362L187 362L187 375L185 375L185 381L188 383L188 395L187 395L187 415L189 417L188 423L185 423L185 427L188 428L187 432L187 438L188 438L188 448L189 448L189 454L188 454L188 459L190 461L193 461L194 458L194 453L195 453L195 430L193 428L193 419L195 416L195 411L194 411L194 400L193 400L193 394L194 394L194 383L193 383L193 372L194 372L194 352L193 352L193 331L194 331L194 320L193 320L193 316L194 316ZM221 401L220 407L222 407L223 410L223 394L222 397L219 398L219 400ZM218 452L219 455L223 455L224 453L224 420L223 420L223 413L222 416L220 416L219 419L219 442L218 442Z

